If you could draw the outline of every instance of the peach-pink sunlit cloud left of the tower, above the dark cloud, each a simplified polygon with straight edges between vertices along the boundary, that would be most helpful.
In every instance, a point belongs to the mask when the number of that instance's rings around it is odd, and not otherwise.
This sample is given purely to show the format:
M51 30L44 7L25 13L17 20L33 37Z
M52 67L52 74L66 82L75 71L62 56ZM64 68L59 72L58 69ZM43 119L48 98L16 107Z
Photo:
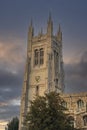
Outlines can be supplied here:
M0 41L0 68L4 67L13 73L17 72L17 68L26 59L26 44L22 39L11 38L9 41Z

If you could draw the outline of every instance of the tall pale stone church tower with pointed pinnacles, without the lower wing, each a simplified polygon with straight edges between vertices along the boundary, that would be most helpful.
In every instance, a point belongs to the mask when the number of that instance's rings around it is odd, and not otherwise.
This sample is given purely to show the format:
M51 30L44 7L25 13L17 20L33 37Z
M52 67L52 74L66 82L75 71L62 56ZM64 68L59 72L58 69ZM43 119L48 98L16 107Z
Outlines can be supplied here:
M24 129L23 121L29 110L29 101L51 91L64 91L64 71L61 28L59 25L57 34L53 35L53 21L49 15L46 34L41 31L34 36L32 21L29 26L19 130Z

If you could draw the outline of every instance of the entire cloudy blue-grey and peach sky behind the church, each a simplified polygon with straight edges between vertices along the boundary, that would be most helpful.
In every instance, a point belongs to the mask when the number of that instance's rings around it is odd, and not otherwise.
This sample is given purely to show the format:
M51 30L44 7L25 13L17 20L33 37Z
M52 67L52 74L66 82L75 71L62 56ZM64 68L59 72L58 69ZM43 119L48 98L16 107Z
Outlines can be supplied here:
M19 116L30 21L45 33L49 12L63 33L65 93L87 91L87 0L0 0L0 130Z

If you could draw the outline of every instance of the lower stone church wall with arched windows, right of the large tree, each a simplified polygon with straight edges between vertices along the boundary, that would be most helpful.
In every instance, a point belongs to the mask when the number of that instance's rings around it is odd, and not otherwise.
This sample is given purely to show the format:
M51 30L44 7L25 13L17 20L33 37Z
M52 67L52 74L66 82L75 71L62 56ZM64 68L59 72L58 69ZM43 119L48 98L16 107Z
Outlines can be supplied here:
M87 93L63 94L62 98L67 104L66 113L74 118L74 127L87 129Z

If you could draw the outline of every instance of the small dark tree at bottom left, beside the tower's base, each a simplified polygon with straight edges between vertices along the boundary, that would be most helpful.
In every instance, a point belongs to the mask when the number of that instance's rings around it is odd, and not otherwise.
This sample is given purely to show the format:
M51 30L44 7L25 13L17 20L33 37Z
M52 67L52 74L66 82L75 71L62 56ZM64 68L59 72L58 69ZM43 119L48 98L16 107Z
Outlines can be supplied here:
M19 119L17 117L14 117L8 124L7 124L7 130L18 130L19 126Z

